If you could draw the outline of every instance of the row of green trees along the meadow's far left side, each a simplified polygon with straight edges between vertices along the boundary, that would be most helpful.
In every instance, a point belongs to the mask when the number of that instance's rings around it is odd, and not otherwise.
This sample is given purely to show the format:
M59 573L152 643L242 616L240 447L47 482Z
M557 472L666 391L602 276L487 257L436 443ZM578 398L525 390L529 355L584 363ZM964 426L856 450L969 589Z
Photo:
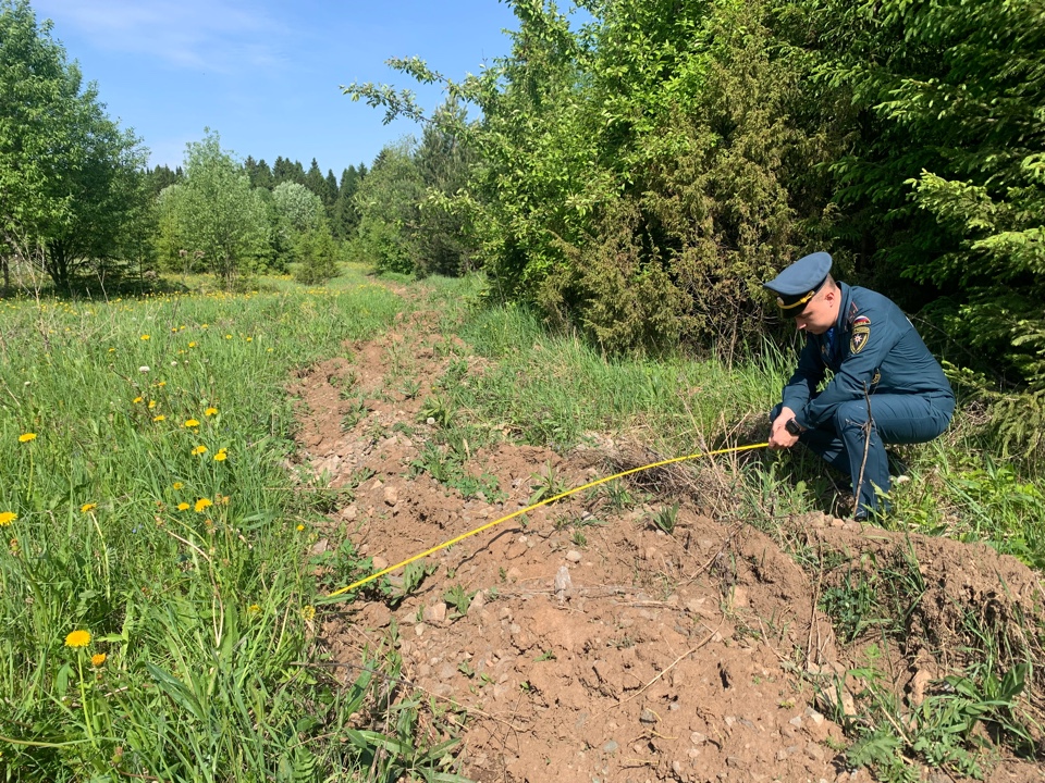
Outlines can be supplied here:
M0 272L4 290L112 287L157 271L337 273L366 165L238 161L206 132L182 166L148 169L26 0L0 0Z

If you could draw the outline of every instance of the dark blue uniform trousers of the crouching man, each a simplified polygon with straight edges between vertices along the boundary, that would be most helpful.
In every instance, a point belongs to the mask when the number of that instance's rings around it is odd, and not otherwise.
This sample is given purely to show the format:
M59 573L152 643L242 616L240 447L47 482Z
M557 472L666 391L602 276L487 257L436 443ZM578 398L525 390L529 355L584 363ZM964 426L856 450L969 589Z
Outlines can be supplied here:
M874 488L889 490L889 461L885 444L913 444L932 440L950 423L955 399L949 395L871 395L871 436L868 440L868 400L857 399L837 406L820 426L798 436L828 464L852 477L852 495L859 498L857 515L878 509ZM776 421L783 403L770 414ZM868 460L863 452L866 445ZM863 464L863 483L860 467ZM888 511L886 504L883 511Z

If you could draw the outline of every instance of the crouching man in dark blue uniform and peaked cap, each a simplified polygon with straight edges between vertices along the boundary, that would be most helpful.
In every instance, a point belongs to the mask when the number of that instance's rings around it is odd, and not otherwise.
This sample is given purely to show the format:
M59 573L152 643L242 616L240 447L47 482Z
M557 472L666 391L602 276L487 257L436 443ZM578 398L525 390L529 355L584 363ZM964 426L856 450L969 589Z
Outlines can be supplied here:
M878 510L875 487L889 490L885 444L938 436L955 412L955 395L896 304L829 273L831 256L817 252L765 284L806 334L798 370L770 414L770 448L800 440L852 476L855 515L863 520ZM834 376L817 391L828 370Z

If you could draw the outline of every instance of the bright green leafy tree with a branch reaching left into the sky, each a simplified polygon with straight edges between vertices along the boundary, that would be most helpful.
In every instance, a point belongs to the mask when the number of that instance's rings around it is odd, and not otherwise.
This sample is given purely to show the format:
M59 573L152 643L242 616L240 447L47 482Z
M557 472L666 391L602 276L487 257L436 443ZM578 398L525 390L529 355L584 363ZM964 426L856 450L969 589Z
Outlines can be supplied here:
M585 41L554 5L509 4L519 18L512 54L478 76L455 83L417 58L389 62L421 83L443 83L451 97L478 108L475 123L452 112L438 117L448 123L444 133L482 161L457 209L468 215L478 256L501 295L532 300L548 275L569 263L568 253L588 235L593 204L614 183L581 121ZM428 122L409 90L367 84L345 91L383 105L386 120Z

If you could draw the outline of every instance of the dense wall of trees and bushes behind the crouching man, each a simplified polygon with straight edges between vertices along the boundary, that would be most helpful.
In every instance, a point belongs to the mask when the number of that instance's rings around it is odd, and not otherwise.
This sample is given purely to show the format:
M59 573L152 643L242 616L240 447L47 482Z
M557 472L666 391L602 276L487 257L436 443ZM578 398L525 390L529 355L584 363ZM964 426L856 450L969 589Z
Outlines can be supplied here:
M479 117L448 196L492 290L604 345L732 351L797 256L909 311L1010 445L1045 425L1045 25L1030 0L513 0L512 53L442 82ZM422 119L413 96L354 98ZM985 371L985 375L975 375Z

